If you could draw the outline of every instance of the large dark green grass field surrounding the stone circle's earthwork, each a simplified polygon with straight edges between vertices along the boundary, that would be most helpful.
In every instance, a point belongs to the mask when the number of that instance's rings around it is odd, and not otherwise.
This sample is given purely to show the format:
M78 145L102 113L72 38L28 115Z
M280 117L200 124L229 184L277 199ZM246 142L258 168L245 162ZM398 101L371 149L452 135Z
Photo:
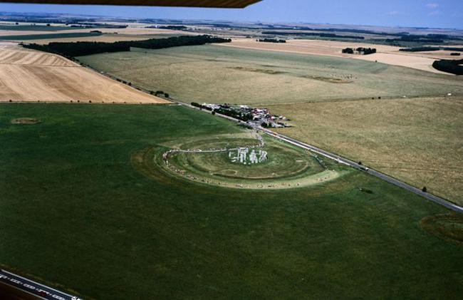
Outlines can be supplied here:
M132 165L245 132L178 106L0 105L2 268L85 299L461 297L461 245L420 227L447 210L374 177L231 190Z

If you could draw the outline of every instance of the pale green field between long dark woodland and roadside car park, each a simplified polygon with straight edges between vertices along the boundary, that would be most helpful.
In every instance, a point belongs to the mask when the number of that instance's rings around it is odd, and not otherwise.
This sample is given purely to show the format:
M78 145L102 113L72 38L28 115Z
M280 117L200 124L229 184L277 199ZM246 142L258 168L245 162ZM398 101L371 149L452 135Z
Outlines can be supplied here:
M85 64L185 102L270 104L463 94L456 76L383 63L222 46L98 54Z

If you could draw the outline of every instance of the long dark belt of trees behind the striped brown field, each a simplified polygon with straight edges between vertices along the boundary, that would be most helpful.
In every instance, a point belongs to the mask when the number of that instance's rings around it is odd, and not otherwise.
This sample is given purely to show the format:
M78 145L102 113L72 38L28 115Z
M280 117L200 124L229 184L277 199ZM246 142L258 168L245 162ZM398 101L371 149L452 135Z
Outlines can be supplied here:
M204 45L206 43L229 43L231 39L214 36L177 36L172 38L151 38L144 41L117 41L114 43L79 41L73 43L24 44L25 48L56 53L68 58L98 53L130 51L130 48L161 49L177 46Z

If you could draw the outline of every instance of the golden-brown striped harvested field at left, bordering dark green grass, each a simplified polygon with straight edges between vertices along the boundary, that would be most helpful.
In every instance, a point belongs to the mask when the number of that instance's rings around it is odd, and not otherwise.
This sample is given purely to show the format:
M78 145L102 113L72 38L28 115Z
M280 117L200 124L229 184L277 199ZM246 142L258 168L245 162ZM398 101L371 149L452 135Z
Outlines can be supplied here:
M0 101L168 103L66 58L0 45Z

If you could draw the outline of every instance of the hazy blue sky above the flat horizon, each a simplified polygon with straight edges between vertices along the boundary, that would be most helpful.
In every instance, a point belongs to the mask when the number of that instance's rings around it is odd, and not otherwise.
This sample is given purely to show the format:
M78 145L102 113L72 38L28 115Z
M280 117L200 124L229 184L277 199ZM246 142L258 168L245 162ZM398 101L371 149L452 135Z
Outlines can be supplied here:
M0 4L0 11L463 29L463 0L263 0L246 9Z

